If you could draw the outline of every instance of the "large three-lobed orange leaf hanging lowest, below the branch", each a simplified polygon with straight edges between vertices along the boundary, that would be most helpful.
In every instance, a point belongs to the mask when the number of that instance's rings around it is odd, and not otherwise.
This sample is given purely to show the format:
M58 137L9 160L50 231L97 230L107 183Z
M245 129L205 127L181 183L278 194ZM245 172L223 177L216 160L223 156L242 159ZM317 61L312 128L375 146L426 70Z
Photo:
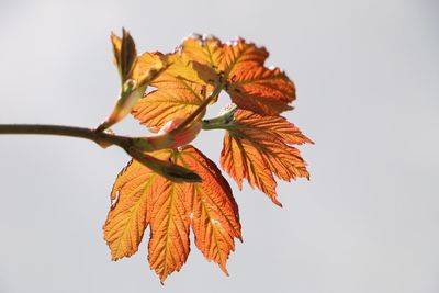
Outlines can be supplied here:
M196 247L227 272L225 266L235 248L234 238L240 239L238 209L227 181L215 164L192 146L154 155L194 170L203 181L169 181L132 160L114 183L114 204L104 225L113 259L136 252L150 225L149 264L164 282L184 264L192 226Z

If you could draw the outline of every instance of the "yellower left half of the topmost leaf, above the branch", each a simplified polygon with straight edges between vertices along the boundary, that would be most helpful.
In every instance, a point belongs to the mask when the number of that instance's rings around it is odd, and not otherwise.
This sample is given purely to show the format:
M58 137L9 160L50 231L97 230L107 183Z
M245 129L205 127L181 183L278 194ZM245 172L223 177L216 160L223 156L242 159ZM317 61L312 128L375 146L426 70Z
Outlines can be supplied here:
M150 82L157 90L138 101L132 112L134 117L153 132L171 120L188 117L214 89L218 79L214 70L217 60L211 63L210 58L216 58L221 48L216 38L187 38L180 48L166 56L169 66Z

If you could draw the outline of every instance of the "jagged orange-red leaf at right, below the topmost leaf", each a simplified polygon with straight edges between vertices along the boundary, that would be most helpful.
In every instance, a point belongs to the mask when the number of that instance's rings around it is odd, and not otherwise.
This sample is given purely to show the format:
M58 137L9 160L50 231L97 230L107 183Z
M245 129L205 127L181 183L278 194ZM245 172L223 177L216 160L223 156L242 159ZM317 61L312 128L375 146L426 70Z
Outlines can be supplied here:
M240 189L246 179L281 206L273 174L285 181L309 177L300 151L290 145L313 142L285 119L238 110L227 129L221 166Z

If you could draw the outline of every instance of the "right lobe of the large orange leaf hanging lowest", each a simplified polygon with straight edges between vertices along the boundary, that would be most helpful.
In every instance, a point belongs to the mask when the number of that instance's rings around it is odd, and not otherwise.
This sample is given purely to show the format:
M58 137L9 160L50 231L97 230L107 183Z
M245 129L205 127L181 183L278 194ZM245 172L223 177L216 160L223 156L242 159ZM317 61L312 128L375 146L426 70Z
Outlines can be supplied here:
M216 165L196 148L188 146L180 157L184 167L196 170L203 183L187 183L187 192L193 194L192 229L196 247L204 257L219 264L227 273L226 261L234 251L234 237L240 236L238 206L232 189L221 176Z

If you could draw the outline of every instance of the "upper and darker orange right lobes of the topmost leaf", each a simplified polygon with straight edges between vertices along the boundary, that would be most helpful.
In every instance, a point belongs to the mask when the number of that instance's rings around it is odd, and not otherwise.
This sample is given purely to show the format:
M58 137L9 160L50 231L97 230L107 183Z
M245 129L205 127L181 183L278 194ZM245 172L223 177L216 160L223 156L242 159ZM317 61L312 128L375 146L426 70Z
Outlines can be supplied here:
M294 83L279 68L264 67L268 52L238 38L222 44L216 37L194 35L182 44L185 54L199 67L206 81L221 79L232 100L241 109L262 115L278 115L291 110L295 99ZM217 75L213 78L212 75Z

